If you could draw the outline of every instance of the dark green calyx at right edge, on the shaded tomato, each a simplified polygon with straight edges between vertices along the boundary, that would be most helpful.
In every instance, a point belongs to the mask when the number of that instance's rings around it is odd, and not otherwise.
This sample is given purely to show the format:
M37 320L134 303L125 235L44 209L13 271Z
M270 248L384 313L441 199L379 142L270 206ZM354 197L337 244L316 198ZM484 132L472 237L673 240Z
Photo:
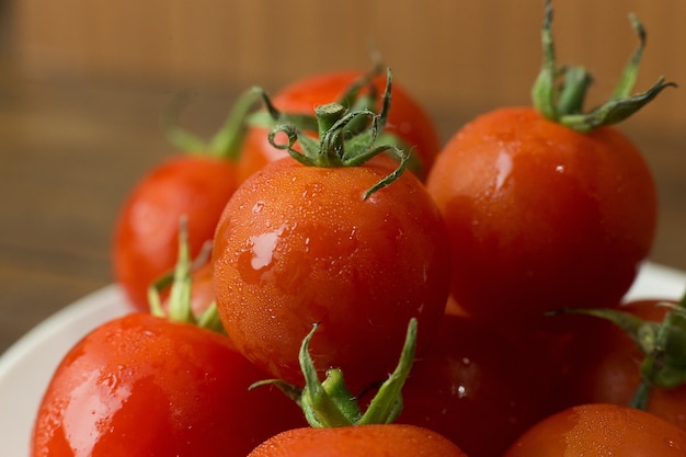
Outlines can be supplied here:
M662 322L643 320L619 309L568 309L559 312L583 313L606 319L633 340L644 358L641 384L631 405L645 409L651 388L674 389L686 385L686 296L667 308Z

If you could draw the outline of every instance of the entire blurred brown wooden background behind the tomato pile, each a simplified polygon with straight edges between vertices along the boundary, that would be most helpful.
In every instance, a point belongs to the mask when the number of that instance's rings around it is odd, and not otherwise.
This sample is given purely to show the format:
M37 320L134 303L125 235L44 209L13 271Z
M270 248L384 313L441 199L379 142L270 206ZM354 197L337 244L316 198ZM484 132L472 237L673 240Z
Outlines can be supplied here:
M609 95L648 30L637 91L686 87L683 0L556 0L560 62ZM184 127L209 136L237 93L368 69L378 49L442 138L500 105L528 104L544 1L0 0L0 352L112 282L111 227L126 192L173 153L159 115L193 94ZM620 128L659 184L652 260L686 270L686 92L667 89Z

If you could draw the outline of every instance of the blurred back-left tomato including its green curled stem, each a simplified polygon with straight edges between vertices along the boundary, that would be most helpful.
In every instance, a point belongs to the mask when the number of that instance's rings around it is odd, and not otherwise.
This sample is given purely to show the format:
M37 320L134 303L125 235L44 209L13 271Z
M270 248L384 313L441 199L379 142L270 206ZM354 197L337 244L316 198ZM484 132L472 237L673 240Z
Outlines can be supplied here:
M207 142L167 121L169 140L183 152L149 170L132 188L117 215L112 243L114 277L140 310L148 310L150 284L174 266L181 218L187 220L192 258L211 240L238 186L244 119L259 96L253 90L243 92Z

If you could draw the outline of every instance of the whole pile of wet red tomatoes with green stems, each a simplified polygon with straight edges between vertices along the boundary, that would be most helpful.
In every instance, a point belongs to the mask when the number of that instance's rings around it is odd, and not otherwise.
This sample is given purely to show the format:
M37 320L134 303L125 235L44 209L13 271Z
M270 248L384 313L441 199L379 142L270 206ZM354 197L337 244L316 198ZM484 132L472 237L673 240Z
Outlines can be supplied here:
M32 456L683 456L686 299L622 302L656 195L613 126L672 84L630 94L634 21L584 113L550 23L533 106L443 147L390 70L247 91L209 145L170 130L198 153L115 230L138 311L65 356Z

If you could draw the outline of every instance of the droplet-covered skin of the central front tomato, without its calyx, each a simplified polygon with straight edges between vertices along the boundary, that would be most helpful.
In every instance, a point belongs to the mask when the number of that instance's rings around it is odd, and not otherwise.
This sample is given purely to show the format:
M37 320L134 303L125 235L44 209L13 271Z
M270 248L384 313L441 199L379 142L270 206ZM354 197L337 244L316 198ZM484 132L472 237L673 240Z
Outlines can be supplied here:
M418 347L445 309L449 256L445 226L420 181L403 173L363 194L391 168L304 167L281 159L236 192L213 249L219 316L253 363L301 386L302 339L315 366L343 369L356 391L397 364L407 327L418 319Z

